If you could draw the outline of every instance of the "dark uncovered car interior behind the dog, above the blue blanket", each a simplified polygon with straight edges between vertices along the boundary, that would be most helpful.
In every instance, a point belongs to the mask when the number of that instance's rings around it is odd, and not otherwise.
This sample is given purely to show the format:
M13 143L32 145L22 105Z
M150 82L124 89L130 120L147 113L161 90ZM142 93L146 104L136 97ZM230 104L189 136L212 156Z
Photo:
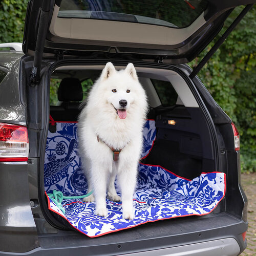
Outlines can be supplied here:
M51 76L52 95L55 90L55 98L50 97L51 120L76 122L80 103L101 70L99 66L57 68ZM187 179L218 171L212 131L186 81L171 70L137 68L137 72L150 105L147 119L155 120L156 129L154 146L142 162L161 165Z

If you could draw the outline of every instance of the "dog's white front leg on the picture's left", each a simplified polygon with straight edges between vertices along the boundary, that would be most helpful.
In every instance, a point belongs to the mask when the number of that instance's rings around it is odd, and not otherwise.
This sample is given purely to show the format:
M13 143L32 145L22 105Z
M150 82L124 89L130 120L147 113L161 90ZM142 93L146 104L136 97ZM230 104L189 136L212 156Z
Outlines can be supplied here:
M93 194L96 201L95 214L108 216L106 209L106 183L108 180L108 169L102 164L92 164Z

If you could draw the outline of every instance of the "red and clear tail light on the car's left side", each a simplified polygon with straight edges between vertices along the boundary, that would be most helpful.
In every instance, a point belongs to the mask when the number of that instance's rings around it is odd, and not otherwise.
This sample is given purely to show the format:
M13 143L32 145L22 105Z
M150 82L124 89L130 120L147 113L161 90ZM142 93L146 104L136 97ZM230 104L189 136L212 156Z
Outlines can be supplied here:
M29 140L25 126L0 123L0 161L28 161Z

